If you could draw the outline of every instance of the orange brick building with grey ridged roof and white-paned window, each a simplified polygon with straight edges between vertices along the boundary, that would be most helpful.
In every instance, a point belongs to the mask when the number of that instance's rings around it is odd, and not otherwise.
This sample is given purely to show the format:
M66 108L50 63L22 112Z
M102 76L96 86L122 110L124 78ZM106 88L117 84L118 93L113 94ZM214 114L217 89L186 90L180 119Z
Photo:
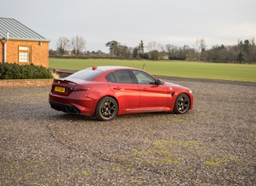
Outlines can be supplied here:
M15 19L0 18L0 63L49 68L50 40Z

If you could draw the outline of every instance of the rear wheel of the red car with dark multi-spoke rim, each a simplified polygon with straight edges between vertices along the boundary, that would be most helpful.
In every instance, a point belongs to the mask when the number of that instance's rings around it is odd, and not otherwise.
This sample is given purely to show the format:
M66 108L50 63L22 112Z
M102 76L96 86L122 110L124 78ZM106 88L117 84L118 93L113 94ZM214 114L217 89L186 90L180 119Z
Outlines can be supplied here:
M118 112L115 99L106 96L98 101L95 116L98 120L113 120Z

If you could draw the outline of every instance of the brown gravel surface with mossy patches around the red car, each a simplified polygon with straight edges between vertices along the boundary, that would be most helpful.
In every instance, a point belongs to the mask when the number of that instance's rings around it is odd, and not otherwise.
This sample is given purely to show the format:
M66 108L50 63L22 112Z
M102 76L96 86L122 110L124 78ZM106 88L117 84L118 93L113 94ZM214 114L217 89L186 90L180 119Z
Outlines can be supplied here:
M0 185L255 185L256 83L176 79L184 115L110 122L50 108L50 87L0 89Z

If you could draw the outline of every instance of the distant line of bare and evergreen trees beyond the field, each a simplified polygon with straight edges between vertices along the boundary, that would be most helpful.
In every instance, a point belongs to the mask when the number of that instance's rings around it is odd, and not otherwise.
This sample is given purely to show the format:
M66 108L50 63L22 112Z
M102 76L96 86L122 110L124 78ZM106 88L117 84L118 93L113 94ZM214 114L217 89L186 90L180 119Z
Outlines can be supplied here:
M57 49L50 49L50 56L59 57L111 57L126 59L150 59L150 60L183 60L183 61L210 61L210 62L256 62L256 45L254 38L251 40L238 40L237 44L225 46L216 44L210 49L206 48L206 40L197 39L193 47L175 44L159 44L151 41L144 44L141 40L137 46L128 47L116 40L106 42L109 53L98 51L86 51L86 41L81 36L59 37Z

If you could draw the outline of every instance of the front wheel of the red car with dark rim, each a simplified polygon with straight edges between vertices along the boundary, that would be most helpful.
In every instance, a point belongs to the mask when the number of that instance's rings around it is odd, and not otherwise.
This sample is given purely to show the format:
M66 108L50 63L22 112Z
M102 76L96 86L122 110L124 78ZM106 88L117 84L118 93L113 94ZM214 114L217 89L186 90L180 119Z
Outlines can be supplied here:
M184 114L190 108L190 98L187 94L180 94L176 98L174 112L176 114Z

